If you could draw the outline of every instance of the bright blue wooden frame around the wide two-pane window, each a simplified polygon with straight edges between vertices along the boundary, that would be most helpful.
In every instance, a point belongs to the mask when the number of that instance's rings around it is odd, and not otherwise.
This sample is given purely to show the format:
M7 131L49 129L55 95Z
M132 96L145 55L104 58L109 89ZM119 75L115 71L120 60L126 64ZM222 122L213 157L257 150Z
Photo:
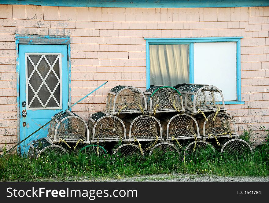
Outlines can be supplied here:
M152 44L189 44L190 83L194 83L193 45L195 42L236 42L236 84L237 101L225 101L225 104L244 104L241 101L241 60L240 39L243 37L206 37L206 38L144 38L146 40L146 87L150 87L149 45Z

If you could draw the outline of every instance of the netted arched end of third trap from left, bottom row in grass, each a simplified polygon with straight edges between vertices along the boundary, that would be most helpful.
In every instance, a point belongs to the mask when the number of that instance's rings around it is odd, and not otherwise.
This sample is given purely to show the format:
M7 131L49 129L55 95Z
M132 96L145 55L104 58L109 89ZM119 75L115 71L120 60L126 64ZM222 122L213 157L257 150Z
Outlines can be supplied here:
M139 146L135 144L123 144L120 145L117 149L114 151L114 155L117 155L119 157L121 156L144 156L144 152L142 149L139 148Z

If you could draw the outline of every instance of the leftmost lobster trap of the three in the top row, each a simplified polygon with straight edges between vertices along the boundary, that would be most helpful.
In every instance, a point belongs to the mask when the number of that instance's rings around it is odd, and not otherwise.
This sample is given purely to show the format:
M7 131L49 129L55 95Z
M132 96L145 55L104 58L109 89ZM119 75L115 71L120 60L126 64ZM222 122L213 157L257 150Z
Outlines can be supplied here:
M118 85L112 88L107 95L106 111L115 114L148 113L146 97L136 87Z

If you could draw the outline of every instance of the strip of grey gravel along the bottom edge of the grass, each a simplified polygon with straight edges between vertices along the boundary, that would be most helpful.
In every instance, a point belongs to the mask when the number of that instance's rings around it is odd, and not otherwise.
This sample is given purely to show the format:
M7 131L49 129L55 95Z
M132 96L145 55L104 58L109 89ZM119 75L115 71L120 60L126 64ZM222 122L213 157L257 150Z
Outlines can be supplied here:
M44 181L44 180L43 180ZM46 181L46 180L45 180ZM57 181L52 180L50 181ZM63 181L63 180L58 180ZM65 181L175 181L175 182L268 182L268 177L249 177L249 176L234 176L234 177L226 177L226 176L217 176L217 175L189 175L189 174L157 174L157 175L139 175L134 177L128 176L119 176L118 178L98 178L98 179L89 179L87 177L69 177Z

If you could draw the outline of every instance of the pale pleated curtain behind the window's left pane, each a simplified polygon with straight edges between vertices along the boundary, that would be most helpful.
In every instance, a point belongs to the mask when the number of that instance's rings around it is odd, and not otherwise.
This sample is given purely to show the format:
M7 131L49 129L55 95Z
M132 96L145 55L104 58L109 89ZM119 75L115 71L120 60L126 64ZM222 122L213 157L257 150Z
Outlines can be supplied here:
M189 45L149 46L150 85L189 83Z

